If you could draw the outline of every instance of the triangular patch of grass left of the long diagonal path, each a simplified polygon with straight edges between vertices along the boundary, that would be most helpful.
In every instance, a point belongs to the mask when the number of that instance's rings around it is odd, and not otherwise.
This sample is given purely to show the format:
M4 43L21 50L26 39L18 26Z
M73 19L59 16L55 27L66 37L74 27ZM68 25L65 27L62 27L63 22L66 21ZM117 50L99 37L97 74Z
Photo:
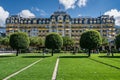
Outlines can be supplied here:
M0 55L0 80L40 58L40 54Z

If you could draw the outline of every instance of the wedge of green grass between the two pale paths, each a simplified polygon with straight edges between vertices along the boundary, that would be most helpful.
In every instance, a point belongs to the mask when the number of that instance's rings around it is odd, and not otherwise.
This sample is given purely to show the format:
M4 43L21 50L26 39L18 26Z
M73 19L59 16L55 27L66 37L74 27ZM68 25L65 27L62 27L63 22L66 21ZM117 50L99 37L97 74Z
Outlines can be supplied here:
M57 55L46 57L41 62L19 73L10 80L51 80Z

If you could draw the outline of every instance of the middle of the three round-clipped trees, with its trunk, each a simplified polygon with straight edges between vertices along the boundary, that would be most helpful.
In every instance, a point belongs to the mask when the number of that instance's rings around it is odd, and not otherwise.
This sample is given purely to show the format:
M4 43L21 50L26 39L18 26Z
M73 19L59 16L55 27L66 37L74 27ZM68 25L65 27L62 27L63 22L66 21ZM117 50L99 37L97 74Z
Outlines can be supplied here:
M52 56L55 49L60 49L63 46L63 39L58 33L50 33L46 36L45 47L52 49Z

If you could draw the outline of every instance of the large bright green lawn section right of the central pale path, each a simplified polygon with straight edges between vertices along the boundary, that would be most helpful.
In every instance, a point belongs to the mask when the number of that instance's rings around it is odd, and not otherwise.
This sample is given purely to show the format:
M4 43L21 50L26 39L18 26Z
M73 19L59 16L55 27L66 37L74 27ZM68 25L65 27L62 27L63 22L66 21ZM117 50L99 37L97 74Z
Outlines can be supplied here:
M119 80L120 65L115 60L120 58L98 57L103 55L92 54L90 58L85 55L62 56L57 80Z

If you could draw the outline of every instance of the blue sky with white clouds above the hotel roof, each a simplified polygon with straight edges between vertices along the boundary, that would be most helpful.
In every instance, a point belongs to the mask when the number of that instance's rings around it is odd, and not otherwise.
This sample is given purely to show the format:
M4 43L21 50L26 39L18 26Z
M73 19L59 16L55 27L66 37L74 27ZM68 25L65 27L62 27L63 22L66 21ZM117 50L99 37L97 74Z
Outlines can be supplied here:
M66 11L71 17L101 14L114 16L116 25L120 26L120 0L0 0L0 26L10 15L22 17L50 17L57 11Z

